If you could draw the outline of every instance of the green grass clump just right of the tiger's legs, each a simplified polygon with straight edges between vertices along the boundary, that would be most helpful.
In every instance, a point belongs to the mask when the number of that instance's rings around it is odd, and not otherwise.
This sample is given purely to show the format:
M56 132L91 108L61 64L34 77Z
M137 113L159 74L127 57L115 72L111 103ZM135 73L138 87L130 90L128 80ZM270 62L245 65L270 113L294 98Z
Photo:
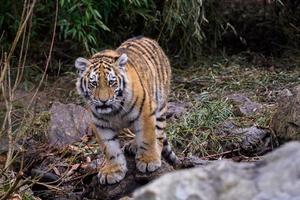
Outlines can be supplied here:
M200 156L219 153L223 150L222 143L237 138L218 136L213 130L232 115L232 108L226 101L204 99L194 103L181 119L168 126L169 140L182 152Z

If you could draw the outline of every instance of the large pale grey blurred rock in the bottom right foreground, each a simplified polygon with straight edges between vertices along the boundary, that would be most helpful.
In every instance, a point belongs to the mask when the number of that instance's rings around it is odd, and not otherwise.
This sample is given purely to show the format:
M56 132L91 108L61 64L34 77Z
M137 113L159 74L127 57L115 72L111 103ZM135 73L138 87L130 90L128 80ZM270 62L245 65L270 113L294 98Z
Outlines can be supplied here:
M297 200L300 142L291 142L256 163L229 160L166 174L133 194L135 200Z

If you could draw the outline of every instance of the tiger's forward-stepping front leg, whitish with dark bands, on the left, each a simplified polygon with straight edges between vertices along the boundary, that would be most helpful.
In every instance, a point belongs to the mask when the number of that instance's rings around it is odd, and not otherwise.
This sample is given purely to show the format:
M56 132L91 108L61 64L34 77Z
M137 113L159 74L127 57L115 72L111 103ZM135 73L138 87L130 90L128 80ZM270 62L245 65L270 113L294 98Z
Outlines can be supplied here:
M101 184L120 182L126 175L126 159L120 148L118 132L108 127L97 127L97 137L103 146L105 161L99 170L98 178Z

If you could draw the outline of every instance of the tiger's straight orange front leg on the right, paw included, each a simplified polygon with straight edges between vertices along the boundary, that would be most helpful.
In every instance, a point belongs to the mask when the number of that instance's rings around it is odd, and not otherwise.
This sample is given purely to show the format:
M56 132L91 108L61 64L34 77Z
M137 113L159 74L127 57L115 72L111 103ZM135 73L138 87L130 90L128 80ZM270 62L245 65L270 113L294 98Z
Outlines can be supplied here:
M136 167L141 172L153 172L161 166L161 147L155 133L155 116L150 113L142 113L134 123L136 134Z

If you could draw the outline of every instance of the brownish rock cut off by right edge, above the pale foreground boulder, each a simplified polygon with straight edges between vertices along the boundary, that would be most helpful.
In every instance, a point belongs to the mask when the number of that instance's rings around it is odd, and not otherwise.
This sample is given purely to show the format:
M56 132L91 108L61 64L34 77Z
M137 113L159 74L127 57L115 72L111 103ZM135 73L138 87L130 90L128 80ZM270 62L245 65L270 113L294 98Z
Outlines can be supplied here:
M292 90L292 95L288 94L280 99L270 127L280 143L300 140L300 85Z

